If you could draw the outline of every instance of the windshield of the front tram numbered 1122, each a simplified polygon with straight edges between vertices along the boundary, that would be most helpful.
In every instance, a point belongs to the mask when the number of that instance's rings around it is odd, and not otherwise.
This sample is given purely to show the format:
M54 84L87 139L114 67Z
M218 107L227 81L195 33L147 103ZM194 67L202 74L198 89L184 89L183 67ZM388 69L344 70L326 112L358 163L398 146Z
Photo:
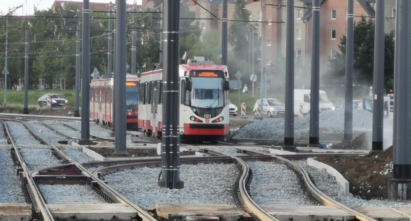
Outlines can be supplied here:
M191 78L191 106L222 107L224 105L223 79Z

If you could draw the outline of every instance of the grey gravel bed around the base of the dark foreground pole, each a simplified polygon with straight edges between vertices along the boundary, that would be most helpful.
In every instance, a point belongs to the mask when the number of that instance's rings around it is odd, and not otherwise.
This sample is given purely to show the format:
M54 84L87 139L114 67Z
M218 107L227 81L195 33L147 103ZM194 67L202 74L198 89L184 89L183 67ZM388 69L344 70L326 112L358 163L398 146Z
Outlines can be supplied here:
M231 189L239 173L236 164L182 164L180 169L183 189L159 187L160 168L119 171L104 175L104 179L142 208L153 207L157 202L234 205Z

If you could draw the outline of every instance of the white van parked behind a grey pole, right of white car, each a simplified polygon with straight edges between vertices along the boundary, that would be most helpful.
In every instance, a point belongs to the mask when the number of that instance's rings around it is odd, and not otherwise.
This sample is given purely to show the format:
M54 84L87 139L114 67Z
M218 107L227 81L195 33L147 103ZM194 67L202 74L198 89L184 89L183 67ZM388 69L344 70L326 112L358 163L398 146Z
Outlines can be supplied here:
M306 115L310 113L310 96L311 90L309 89L294 89L294 115ZM328 100L327 93L320 90L319 99L320 112L327 110L334 110L334 104Z

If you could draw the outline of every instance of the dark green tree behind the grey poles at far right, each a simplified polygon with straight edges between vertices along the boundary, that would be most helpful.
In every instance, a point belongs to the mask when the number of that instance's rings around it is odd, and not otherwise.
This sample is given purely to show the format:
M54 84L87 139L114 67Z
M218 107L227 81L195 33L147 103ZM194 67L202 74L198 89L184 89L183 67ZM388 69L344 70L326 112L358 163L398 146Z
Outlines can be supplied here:
M374 74L374 21L362 18L354 24L354 74L355 84L372 85ZM394 78L394 38L393 33L385 34L384 86L391 89ZM329 60L329 71L324 80L334 85L344 84L346 36L339 44L341 53Z

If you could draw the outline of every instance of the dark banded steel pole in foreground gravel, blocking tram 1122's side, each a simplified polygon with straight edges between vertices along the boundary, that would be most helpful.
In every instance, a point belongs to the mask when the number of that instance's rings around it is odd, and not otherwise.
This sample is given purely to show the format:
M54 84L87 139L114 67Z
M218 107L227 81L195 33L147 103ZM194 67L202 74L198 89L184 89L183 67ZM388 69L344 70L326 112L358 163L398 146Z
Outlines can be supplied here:
M164 69L162 85L161 180L158 185L181 189L179 135L180 0L164 1Z

